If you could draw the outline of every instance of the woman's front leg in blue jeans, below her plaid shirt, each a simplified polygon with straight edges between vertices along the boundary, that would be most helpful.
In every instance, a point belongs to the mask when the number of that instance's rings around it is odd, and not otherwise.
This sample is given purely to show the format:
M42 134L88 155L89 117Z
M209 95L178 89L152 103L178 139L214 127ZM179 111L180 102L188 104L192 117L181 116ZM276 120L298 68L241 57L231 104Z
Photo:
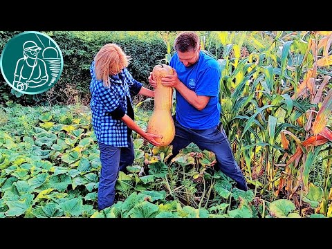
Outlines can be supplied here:
M119 174L120 148L111 145L99 144L100 172L98 187L98 210L103 210L113 205L116 196L116 180Z

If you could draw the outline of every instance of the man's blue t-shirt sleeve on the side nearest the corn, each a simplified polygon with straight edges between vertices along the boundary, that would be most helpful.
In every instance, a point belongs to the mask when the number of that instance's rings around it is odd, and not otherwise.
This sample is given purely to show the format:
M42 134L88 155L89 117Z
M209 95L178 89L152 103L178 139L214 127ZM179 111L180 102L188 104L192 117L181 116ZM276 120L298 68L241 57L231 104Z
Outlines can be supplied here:
M219 82L219 71L216 68L208 68L197 78L195 92L197 95L218 97Z

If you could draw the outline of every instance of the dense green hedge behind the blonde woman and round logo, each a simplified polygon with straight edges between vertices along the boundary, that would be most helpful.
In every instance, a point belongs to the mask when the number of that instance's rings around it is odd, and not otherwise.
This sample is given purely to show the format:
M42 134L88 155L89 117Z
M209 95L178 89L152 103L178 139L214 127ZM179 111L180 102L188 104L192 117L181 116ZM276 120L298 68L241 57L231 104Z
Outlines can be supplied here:
M8 40L22 31L0 31L0 49ZM41 31L42 32L42 31ZM89 102L89 66L98 50L107 43L116 43L132 60L129 71L147 86L147 77L154 66L165 58L167 47L157 32L88 32L71 31L42 32L55 40L62 50L64 69L50 92L37 95L22 95L14 91L0 75L0 104L12 100L22 105L68 104L77 95L84 104Z

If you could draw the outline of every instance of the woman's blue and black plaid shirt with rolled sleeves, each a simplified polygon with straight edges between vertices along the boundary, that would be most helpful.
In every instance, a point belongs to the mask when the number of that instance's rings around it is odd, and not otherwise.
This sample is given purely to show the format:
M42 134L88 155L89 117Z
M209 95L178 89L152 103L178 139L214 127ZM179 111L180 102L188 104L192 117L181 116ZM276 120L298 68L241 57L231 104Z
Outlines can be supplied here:
M131 95L138 94L142 83L134 80L128 69L124 68L118 75L109 78L111 84L107 88L102 80L95 78L95 62L90 66L90 74L92 126L98 142L128 147L127 125L122 120L113 119L109 113L121 104L127 114L127 97L132 104Z

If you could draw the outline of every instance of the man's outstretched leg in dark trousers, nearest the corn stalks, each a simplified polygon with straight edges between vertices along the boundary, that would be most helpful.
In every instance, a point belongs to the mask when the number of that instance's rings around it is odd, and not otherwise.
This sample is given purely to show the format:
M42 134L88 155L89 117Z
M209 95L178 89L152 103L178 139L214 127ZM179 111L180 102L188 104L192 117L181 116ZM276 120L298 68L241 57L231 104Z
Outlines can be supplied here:
M248 190L246 179L234 160L225 131L219 131L216 127L206 130L192 129L192 131L194 143L201 150L207 149L214 152L217 161L216 166L221 169L221 172L236 181L240 190Z

